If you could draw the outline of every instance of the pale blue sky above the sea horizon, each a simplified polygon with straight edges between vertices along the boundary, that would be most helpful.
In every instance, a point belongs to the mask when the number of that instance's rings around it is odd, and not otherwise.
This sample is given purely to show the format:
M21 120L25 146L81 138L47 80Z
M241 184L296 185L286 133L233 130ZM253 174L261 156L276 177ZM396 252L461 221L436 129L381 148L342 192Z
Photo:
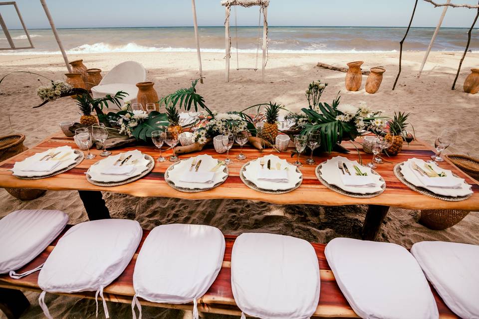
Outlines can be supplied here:
M438 0L445 2L446 0ZM453 2L477 4L477 0ZM28 28L49 28L39 0L17 0ZM191 0L47 0L57 28L190 26ZM414 0L270 0L270 25L406 26ZM223 25L220 0L196 0L201 26ZM413 26L435 26L442 8L419 0ZM444 27L470 27L476 9L449 8ZM0 6L8 28L19 28L14 10ZM238 9L240 25L256 25L258 8Z

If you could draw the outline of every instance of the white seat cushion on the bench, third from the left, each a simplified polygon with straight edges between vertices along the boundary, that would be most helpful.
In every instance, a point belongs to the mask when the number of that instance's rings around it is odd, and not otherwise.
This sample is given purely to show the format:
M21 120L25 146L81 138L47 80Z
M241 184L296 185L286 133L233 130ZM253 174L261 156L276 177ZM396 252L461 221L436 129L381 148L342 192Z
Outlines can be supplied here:
M145 239L136 260L135 293L155 303L196 301L218 276L224 254L225 237L216 227L157 226Z

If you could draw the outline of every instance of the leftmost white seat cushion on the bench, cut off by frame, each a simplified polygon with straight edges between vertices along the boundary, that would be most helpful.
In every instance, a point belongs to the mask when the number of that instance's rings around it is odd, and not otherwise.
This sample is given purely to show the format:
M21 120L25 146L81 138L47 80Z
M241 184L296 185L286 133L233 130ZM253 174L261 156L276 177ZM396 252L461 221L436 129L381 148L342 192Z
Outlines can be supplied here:
M0 274L23 267L65 228L68 216L59 210L17 210L0 220Z

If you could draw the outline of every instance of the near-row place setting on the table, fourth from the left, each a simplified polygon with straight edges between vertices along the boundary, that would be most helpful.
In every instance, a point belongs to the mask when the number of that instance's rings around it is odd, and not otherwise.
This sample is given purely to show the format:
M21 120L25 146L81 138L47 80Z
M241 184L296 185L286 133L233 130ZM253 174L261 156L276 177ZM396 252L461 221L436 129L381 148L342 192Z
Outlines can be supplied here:
M250 160L240 169L240 178L251 189L268 194L284 194L303 181L299 168L275 155Z

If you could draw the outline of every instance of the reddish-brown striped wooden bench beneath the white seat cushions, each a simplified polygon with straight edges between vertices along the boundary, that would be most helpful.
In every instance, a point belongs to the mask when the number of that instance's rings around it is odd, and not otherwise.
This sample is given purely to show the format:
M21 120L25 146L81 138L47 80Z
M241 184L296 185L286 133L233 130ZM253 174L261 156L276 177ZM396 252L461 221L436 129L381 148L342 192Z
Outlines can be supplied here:
M63 236L65 230L48 246L39 256L28 263L25 267L17 272L21 273L25 270L39 266L47 259L50 252L55 247L58 239ZM117 303L131 304L133 295L133 271L135 262L145 238L150 233L149 230L143 230L143 237L140 245L125 271L104 289L104 296L107 301ZM223 266L208 292L199 299L198 310L204 313L215 313L224 315L240 316L241 311L236 306L231 289L231 253L233 244L237 236L225 235L226 251L223 260ZM324 256L324 244L312 244L318 257L320 276L321 276L321 292L318 307L312 318L359 318L351 309L334 279L334 275L329 268L326 257ZM41 289L37 285L38 272L33 273L21 279L11 279L7 274L0 275L0 309L7 315L7 318L18 318L21 313L29 306L28 301L18 290L38 291ZM437 292L432 288L434 298L438 304L441 319L459 318L444 304L443 300ZM385 292L387 293L387 292ZM62 294L78 298L95 298L95 292L81 292L75 294ZM25 303L26 301L26 303ZM140 299L140 303L145 306L163 307L192 310L193 304L173 305L173 304L157 304Z

